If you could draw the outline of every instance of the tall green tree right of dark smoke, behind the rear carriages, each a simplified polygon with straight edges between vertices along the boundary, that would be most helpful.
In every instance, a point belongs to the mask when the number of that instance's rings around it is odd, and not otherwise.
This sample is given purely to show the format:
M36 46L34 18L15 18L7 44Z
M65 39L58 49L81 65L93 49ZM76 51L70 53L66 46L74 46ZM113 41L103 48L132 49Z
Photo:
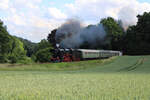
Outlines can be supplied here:
M106 48L113 50L120 50L120 41L122 40L122 36L124 34L123 28L121 27L120 21L116 21L112 17L104 18L100 21L103 24L105 31L107 33L106 36Z

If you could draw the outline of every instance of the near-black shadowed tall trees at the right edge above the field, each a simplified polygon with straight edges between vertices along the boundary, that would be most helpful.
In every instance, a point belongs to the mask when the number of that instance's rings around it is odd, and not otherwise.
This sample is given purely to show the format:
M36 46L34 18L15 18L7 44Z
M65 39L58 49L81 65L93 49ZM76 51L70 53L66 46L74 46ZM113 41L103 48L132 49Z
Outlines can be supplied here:
M137 25L127 30L126 53L150 54L150 12L138 15L137 18Z

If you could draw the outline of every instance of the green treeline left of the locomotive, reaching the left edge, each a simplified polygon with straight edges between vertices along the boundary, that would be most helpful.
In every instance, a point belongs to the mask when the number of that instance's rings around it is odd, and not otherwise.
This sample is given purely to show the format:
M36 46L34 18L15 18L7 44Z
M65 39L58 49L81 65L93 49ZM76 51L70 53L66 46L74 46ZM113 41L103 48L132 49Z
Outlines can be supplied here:
M0 63L29 64L49 62L52 46L47 40L33 43L29 40L12 36L0 20Z

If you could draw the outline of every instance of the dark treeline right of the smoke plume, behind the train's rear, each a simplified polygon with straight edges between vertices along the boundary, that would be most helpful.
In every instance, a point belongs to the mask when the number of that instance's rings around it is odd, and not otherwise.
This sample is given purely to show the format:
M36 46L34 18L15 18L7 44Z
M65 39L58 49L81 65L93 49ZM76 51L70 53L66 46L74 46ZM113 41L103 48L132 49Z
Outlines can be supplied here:
M124 30L121 21L105 18L101 23L107 32L104 49L119 50L126 55L150 54L150 12L137 16L137 24Z

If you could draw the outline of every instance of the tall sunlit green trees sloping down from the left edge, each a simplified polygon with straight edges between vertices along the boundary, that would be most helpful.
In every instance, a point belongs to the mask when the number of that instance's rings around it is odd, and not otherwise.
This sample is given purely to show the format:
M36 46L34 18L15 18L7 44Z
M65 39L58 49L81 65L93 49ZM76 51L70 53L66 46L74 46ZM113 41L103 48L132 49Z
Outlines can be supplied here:
M0 63L30 62L26 56L23 43L9 35L6 26L0 21Z

